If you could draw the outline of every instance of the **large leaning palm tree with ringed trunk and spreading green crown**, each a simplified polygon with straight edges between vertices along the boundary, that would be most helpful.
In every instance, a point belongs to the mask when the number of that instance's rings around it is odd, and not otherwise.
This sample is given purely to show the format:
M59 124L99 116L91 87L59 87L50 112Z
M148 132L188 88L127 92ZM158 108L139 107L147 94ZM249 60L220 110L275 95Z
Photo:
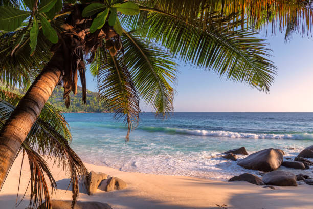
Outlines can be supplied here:
M0 185L56 85L85 102L85 65L100 98L136 127L140 98L157 114L173 110L175 60L269 92L276 67L263 40L273 31L312 33L310 0L5 0L0 7L1 79L27 93L0 132ZM30 76L31 75L31 76Z

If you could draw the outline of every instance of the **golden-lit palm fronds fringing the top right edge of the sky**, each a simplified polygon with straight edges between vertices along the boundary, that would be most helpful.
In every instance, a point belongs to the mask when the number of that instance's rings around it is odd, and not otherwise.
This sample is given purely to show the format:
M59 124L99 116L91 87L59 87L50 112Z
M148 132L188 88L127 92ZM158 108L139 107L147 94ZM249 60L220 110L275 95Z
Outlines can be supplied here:
M241 22L241 27L259 29L271 23L273 30L282 31L294 18L297 19L297 30L302 34L313 32L313 1L311 0L157 0L138 1L144 7L157 9L185 22L197 23L202 19L203 29L210 22L210 12L221 16L232 16ZM244 25L245 24L245 25ZM201 25L199 25L201 27Z

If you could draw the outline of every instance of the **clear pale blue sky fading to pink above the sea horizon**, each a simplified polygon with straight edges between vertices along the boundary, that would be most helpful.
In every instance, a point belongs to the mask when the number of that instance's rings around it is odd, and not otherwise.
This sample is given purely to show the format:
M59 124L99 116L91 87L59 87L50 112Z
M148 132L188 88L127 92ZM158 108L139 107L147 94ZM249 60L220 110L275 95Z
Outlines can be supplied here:
M180 65L174 111L177 112L313 112L313 39L284 34L267 39L277 66L275 82L266 94L243 83L220 79L214 72ZM96 91L96 80L87 74L87 88ZM142 111L151 108L141 103Z

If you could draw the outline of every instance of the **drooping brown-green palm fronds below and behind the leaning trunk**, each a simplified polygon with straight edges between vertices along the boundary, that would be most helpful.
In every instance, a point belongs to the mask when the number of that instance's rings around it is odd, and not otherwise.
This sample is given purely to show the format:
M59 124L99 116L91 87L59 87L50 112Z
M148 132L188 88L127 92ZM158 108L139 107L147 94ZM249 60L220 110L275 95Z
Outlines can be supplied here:
M7 88L0 89L0 128L4 126L22 97L10 89L5 89ZM51 207L49 187L45 176L48 177L53 191L57 185L45 159L53 160L54 164L69 172L73 205L78 198L79 183L84 183L84 185L90 183L87 169L70 148L71 138L68 123L62 113L46 103L18 151L18 153L23 153L23 160L26 153L31 170L30 208L37 208L43 195L46 200L45 206Z

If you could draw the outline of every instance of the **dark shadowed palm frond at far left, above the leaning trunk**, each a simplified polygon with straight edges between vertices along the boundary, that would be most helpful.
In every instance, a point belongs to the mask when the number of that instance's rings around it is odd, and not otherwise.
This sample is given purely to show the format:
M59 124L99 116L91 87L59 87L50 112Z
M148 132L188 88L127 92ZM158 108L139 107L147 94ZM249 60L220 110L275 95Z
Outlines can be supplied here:
M39 32L34 54L30 56L29 30L19 29L0 36L0 81L27 87L52 57L51 44ZM18 49L11 55L12 50Z

